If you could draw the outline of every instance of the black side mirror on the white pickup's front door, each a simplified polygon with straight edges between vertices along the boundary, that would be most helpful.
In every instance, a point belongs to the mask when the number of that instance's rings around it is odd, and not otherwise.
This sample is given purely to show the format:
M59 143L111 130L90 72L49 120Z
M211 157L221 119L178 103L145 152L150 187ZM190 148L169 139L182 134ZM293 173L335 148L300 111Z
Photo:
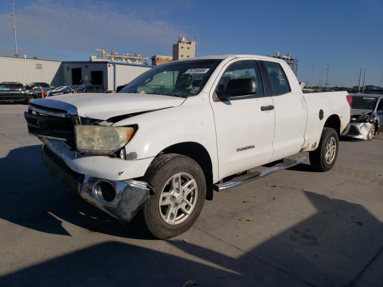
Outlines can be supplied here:
M222 85L219 85L218 88L222 88ZM224 91L217 90L216 94L219 99L226 99L254 95L257 91L257 82L254 78L238 78L231 79L226 85L226 89Z

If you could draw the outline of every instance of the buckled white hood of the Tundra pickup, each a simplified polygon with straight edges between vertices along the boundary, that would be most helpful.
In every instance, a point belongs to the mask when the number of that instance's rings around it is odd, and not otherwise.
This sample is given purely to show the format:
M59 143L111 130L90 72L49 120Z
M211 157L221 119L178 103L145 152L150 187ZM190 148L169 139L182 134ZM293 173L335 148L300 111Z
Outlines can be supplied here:
M106 120L124 114L146 112L179 106L185 98L165 95L134 93L87 93L51 96L35 99L33 104L66 109L68 104L77 109L81 117Z

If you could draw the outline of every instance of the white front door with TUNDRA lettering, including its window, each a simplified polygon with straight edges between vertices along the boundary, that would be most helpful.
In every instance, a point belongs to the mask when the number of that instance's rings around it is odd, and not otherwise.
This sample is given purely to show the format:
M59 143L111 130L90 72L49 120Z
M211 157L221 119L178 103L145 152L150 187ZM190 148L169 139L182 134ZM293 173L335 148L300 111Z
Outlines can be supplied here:
M218 98L217 90L218 93L225 90L231 80L246 78L255 80L256 93L225 100ZM224 66L214 83L210 103L216 127L220 179L271 161L275 128L273 99L265 96L259 63L254 58L234 59Z

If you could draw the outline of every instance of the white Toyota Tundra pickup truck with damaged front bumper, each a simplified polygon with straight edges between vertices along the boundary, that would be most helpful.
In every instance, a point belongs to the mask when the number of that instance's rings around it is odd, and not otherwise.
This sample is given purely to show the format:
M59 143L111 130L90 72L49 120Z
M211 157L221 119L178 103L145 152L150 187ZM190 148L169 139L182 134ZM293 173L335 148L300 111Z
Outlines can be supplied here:
M66 186L170 238L193 225L213 190L306 159L286 157L308 151L316 170L330 170L350 120L346 96L303 94L282 60L222 55L154 67L118 93L34 99L24 115Z

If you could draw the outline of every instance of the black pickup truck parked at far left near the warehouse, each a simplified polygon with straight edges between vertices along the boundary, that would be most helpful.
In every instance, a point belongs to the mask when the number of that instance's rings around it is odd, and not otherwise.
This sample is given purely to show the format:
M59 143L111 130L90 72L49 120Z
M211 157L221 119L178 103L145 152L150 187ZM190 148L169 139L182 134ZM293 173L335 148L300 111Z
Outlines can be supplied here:
M16 101L29 104L33 99L42 98L42 90L26 89L19 82L0 83L0 101Z

